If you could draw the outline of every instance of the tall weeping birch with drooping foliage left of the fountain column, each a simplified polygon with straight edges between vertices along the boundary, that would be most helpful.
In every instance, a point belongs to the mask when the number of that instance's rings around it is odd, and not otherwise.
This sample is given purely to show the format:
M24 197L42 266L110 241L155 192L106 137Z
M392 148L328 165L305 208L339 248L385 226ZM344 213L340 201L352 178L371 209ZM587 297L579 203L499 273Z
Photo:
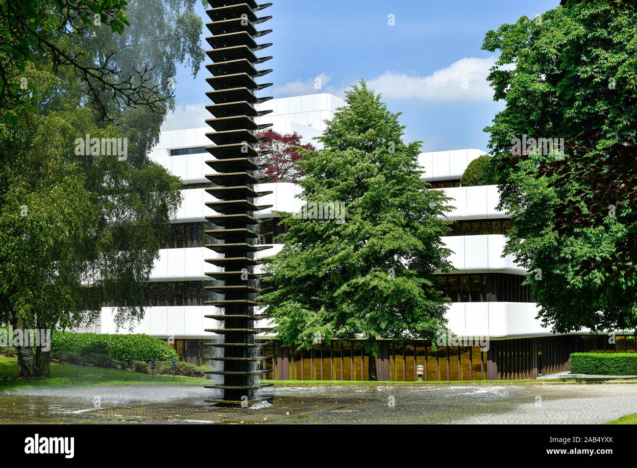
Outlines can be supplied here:
M182 188L148 150L173 104L165 85L176 63L188 61L196 74L203 59L194 0L132 3L130 17L143 17L148 6L152 18L121 35L99 29L55 36L61 50L82 50L97 66L100 57L117 63L115 78L143 66L147 84L132 86L152 89L147 104L97 88L99 104L87 99L89 82L35 53L25 74L41 93L39 113L16 108L16 124L0 125L0 322L14 329L83 325L107 297L120 304L118 326L143 317L145 284ZM127 154L78 148L87 134L126 141ZM24 346L18 355L21 375L48 374L48 353L36 349L34 360Z

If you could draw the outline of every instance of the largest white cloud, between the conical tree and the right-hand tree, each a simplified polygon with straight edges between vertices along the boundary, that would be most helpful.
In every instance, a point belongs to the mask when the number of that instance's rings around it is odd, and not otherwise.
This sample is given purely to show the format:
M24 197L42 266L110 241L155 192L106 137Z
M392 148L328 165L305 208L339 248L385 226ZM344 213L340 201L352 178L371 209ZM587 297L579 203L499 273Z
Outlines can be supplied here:
M491 101L493 89L487 76L496 60L496 57L465 57L427 76L385 71L369 80L368 85L385 99Z

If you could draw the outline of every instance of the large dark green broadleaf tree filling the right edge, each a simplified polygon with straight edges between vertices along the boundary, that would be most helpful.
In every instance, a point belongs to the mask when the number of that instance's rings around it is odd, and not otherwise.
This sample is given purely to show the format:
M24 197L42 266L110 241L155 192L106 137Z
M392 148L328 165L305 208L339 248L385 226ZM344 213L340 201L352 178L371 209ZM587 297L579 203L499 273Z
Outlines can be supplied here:
M484 39L505 101L485 129L513 222L505 253L536 272L555 332L637 325L636 38L634 3L564 0Z

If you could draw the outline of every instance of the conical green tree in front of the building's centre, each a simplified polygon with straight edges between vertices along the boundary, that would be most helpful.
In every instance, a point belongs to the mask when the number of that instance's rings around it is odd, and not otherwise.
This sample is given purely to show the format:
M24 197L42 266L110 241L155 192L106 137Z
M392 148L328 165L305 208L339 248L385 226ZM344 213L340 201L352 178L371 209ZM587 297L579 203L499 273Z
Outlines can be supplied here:
M282 213L290 230L264 299L286 345L362 337L376 379L377 339L433 339L445 327L434 272L448 269L449 227L438 217L447 197L420 180L420 142L403 143L400 114L380 95L361 81L346 103L319 138L324 149L299 149L308 216ZM325 203L336 213L314 212Z

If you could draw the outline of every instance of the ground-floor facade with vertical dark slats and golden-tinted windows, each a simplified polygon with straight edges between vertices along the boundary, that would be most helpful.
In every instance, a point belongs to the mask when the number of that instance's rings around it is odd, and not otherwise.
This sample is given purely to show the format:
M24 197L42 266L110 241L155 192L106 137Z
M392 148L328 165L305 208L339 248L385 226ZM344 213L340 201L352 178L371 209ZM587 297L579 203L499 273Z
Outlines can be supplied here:
M606 346L606 352L624 350L637 352L632 344L630 346L627 344L627 341L634 340L633 335L617 336L616 339L623 340L624 343ZM417 381L417 366L424 365L422 376L424 381L529 379L568 371L571 353L602 352L604 341L607 342L608 337L582 339L580 336L551 336L504 339L490 341L485 351L478 346L462 344L441 346L434 350L429 343L420 340L407 343L380 340L376 372L379 381ZM268 357L268 362L270 359L272 361L273 370L270 372L273 379L366 380L369 378L368 357L364 352L363 343L359 340L343 343L332 341L329 344L316 346L309 352L296 346L291 348L282 346L278 341L271 342L266 348L269 349L268 354L273 356ZM356 359L357 353L360 353L360 360ZM349 365L345 362L347 354ZM434 365L430 365L430 358L435 360ZM444 369L440 368L441 359L445 359ZM324 371L327 365L330 369L329 375ZM410 369L410 367L413 368Z

